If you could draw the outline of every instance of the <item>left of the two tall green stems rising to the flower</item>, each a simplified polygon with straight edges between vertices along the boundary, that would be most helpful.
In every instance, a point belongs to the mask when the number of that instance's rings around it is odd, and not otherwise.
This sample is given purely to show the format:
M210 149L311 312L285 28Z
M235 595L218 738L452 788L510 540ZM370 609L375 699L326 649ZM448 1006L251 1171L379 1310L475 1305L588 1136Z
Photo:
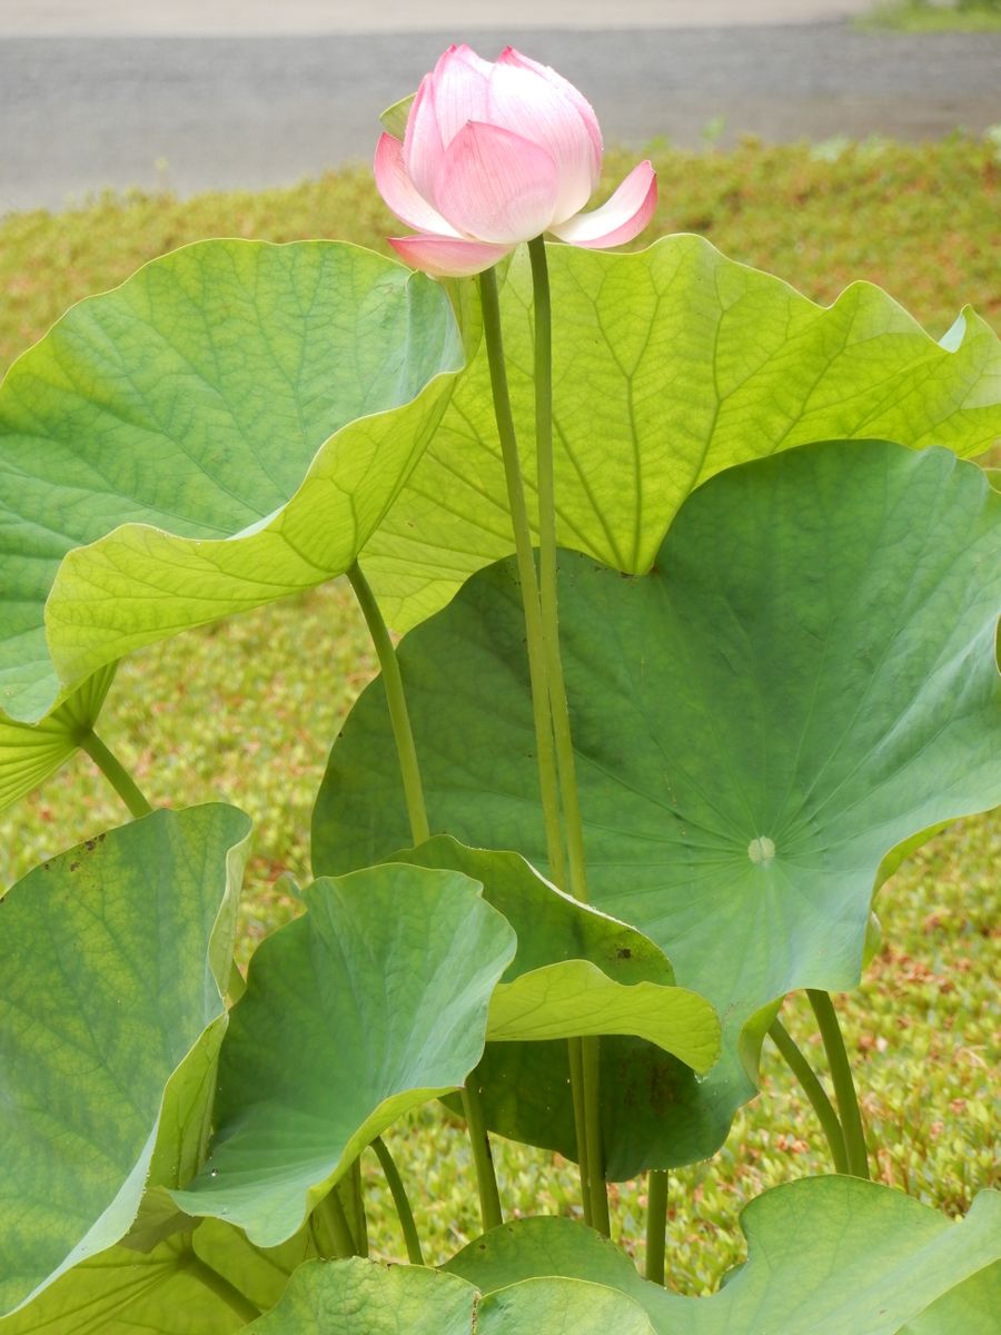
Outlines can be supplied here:
M546 826L546 856L549 858L550 876L557 885L562 886L565 880L563 834L559 822L559 789L557 785L553 720L550 717L549 684L546 680L542 610L539 607L539 587L535 574L535 557L533 554L531 526L529 525L529 510L525 503L522 465L518 458L518 438L511 413L511 395L507 388L505 344L500 332L500 299L496 290L496 274L492 268L479 275L479 291L483 303L483 338L490 363L494 418L500 439L500 454L505 463L505 479L507 482L507 503L511 510L514 550L518 561L518 581L522 586L525 635L529 649L529 678L531 681L531 706L535 722L535 752L539 769L539 796L542 798L542 818Z

